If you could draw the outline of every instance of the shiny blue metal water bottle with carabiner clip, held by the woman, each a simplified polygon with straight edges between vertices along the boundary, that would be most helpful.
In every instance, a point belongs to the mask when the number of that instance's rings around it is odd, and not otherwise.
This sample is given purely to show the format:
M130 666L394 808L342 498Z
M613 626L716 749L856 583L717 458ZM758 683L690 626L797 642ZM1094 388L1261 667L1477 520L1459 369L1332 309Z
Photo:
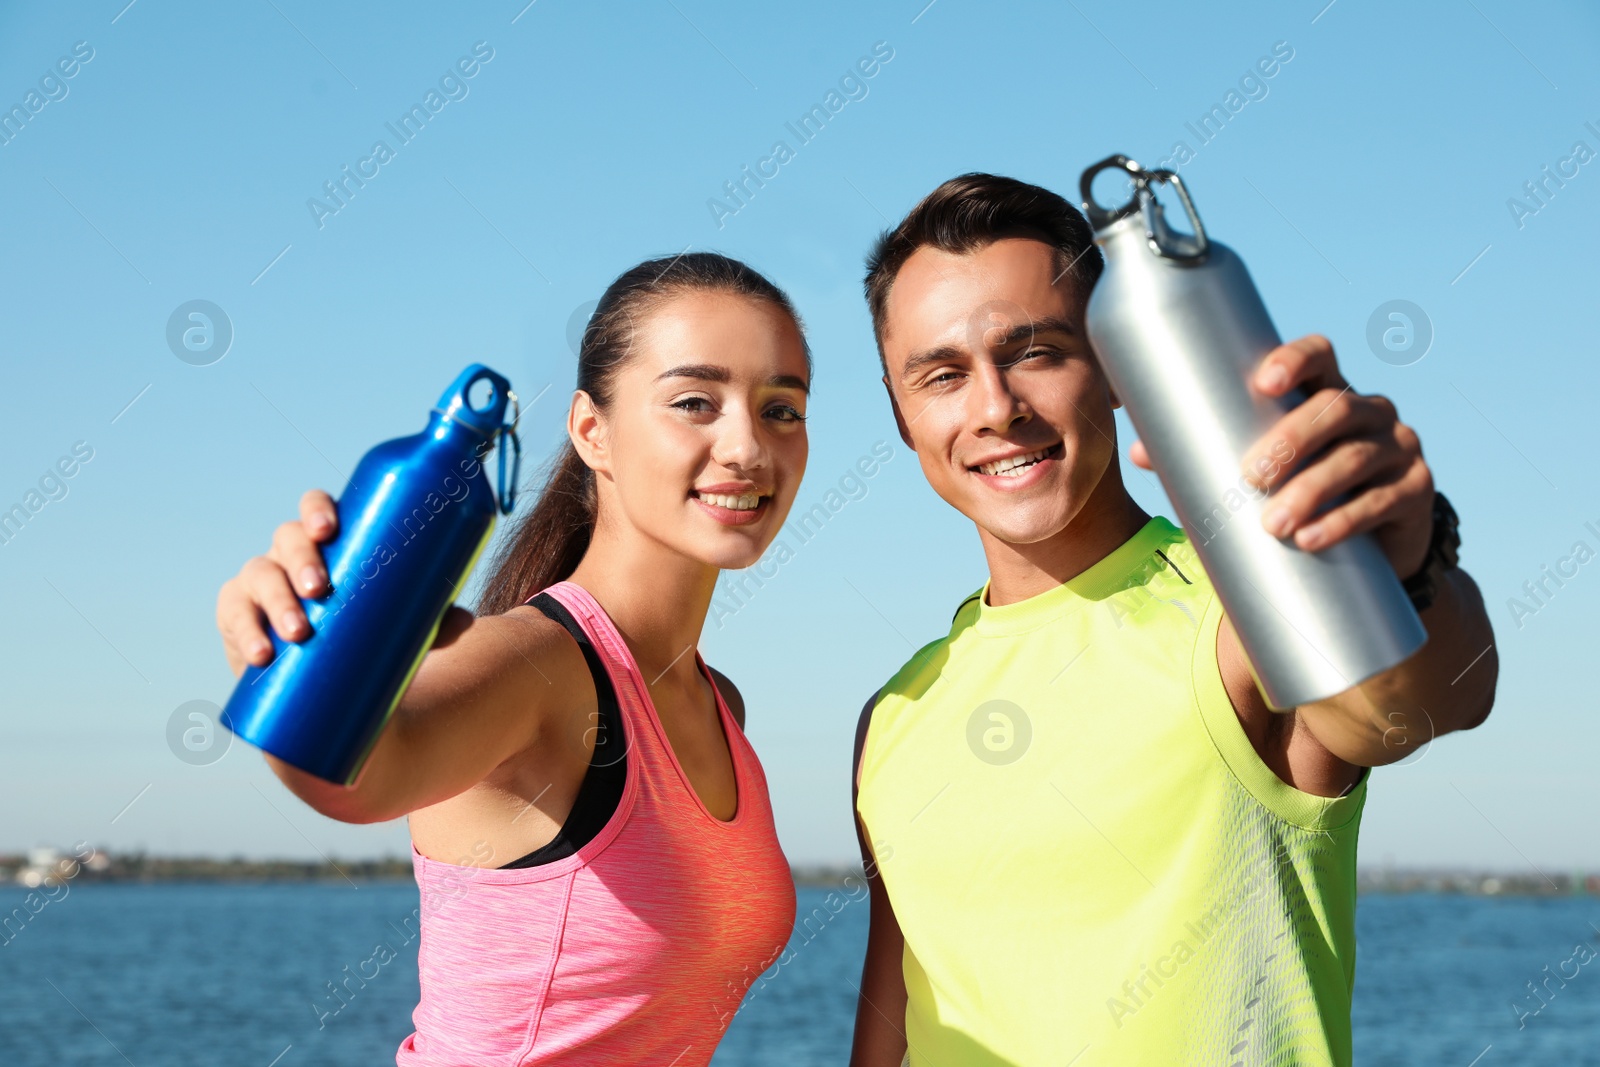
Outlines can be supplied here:
M309 774L355 781L496 514L515 502L518 416L510 382L474 363L440 397L427 429L362 456L338 501L338 537L323 545L331 592L301 601L312 637L272 633L275 657L245 669L224 726ZM496 443L498 491L483 467Z

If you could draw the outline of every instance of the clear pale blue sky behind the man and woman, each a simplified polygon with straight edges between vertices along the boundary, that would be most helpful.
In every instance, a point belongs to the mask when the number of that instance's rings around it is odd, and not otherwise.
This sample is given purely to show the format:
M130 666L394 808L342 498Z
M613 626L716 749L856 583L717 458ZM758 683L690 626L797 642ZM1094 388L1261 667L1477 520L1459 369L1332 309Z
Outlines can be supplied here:
M216 589L302 490L338 491L368 446L419 429L467 362L539 395L525 446L547 454L574 312L693 246L747 259L806 318L800 506L891 450L702 643L746 694L790 857L850 859L856 712L982 581L971 526L894 438L862 254L957 173L1075 198L1088 163L1184 142L1208 229L1280 331L1326 333L1419 429L1499 640L1494 717L1374 776L1363 862L1600 865L1600 561L1533 614L1507 605L1576 541L1600 549L1600 162L1574 155L1600 152L1592 6L125 3L0 10L0 106L29 114L0 144L0 507L38 491L0 544L0 849L403 853L403 822L322 819L242 742L174 758L174 710L232 683ZM1275 46L1291 58L1259 77ZM402 144L386 123L430 90L437 114ZM829 91L837 114L802 142L786 123ZM1229 118L1202 142L1189 126L1213 106ZM392 158L363 163L381 139ZM778 173L728 200L778 141ZM346 166L368 178L334 213L323 184ZM166 339L197 299L232 328L203 366ZM1430 323L1418 362L1368 346L1395 299Z

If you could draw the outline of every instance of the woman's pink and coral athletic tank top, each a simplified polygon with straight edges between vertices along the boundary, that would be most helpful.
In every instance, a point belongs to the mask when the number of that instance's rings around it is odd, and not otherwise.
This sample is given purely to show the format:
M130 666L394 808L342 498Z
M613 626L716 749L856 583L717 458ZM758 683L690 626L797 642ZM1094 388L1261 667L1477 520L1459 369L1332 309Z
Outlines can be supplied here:
M546 592L589 633L616 688L622 800L592 841L542 867L461 867L411 848L422 998L395 1062L709 1064L794 928L766 776L718 694L739 803L730 822L715 819L611 619L571 582Z

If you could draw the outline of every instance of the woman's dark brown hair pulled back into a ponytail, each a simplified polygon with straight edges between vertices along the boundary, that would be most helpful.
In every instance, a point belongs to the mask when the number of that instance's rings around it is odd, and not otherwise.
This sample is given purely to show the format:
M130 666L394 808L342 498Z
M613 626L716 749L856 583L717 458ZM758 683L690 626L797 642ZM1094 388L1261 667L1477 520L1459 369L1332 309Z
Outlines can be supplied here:
M696 290L768 301L800 326L800 315L784 291L738 259L717 253L648 259L606 288L584 330L578 389L589 394L595 408L610 406L611 382L627 362L640 322L667 298ZM806 349L808 370L810 360ZM562 445L546 470L539 499L514 520L510 536L494 553L478 601L480 616L504 614L541 589L571 577L589 550L600 507L595 472L571 442Z

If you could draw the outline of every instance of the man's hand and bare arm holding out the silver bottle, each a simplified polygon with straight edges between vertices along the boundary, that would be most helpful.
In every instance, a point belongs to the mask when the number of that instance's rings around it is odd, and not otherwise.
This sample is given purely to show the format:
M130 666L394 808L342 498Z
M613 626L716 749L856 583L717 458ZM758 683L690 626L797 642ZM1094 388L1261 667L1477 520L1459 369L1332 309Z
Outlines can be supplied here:
M1394 403L1352 390L1333 344L1318 334L1269 352L1250 384L1264 397L1294 387L1306 392L1306 402L1243 458L1245 480L1272 493L1262 526L1307 550L1370 531L1397 576L1422 569L1434 531L1434 475L1422 462L1416 430L1400 422ZM1139 442L1128 458L1150 467ZM1438 734L1470 729L1488 717L1499 659L1483 597L1464 569L1438 576L1422 624L1429 640L1403 664L1294 709L1317 741L1298 749L1290 741L1299 731L1267 726L1274 713L1250 678L1238 633L1230 624L1219 629L1218 665L1234 709L1258 753L1283 781L1349 785L1354 768L1403 760ZM1330 771L1328 755L1347 766Z

